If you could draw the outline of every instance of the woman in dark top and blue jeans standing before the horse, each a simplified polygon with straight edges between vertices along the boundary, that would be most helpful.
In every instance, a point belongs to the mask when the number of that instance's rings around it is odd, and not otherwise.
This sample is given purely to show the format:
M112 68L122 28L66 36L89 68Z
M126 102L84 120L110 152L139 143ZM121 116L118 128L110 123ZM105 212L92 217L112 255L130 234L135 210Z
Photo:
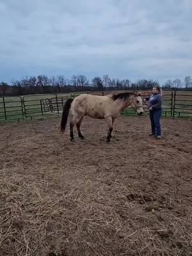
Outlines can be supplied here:
M162 95L159 86L154 86L152 89L152 95L144 99L144 103L148 100L148 109L151 123L150 136L156 136L157 139L161 139L161 124L160 118L162 113Z

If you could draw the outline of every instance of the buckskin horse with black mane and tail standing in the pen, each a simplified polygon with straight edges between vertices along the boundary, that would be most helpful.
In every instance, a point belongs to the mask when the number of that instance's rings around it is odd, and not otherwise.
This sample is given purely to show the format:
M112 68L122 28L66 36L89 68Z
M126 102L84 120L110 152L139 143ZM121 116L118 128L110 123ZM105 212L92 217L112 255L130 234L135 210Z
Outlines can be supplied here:
M113 123L125 108L131 106L138 115L143 114L142 99L140 93L111 93L106 96L81 94L74 99L68 99L63 107L61 118L61 132L65 132L68 113L71 108L72 118L70 120L70 139L74 140L74 125L77 126L79 138L83 139L80 126L84 116L97 119L105 119L108 124L107 142L111 139Z

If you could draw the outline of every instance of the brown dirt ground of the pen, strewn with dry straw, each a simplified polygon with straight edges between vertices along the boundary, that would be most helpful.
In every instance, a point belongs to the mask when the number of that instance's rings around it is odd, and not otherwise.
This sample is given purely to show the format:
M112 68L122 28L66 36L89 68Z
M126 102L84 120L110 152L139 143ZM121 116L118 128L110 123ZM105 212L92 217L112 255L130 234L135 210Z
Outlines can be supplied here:
M60 118L0 124L0 255L192 253L192 120L85 118L70 142Z

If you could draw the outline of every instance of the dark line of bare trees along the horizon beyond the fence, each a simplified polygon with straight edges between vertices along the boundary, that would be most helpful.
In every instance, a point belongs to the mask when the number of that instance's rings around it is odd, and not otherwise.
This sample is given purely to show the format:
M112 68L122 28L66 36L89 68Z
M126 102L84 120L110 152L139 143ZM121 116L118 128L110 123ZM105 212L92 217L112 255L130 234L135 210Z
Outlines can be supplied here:
M40 93L68 93L85 91L106 91L106 90L150 90L153 86L159 86L158 81L140 79L132 83L129 79L115 79L108 75L94 77L90 83L83 75L74 75L71 79L65 76L31 76L19 80L13 80L10 84L0 83L1 96L28 95ZM191 88L192 80L190 76L180 79L168 80L163 86L166 89Z

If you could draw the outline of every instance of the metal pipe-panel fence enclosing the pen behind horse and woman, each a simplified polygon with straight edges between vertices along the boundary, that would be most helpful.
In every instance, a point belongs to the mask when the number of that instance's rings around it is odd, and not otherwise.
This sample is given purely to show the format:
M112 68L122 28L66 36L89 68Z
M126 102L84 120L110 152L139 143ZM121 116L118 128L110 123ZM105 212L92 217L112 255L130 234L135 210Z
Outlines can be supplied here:
M133 91L129 90L129 92ZM0 97L0 121L20 120L20 118L32 119L38 116L60 114L63 111L65 101L69 98L77 97L81 93L108 95L111 92L78 92L26 95L24 97ZM141 91L141 95L142 97L147 97L150 95L150 92L143 90ZM144 106L144 108L145 113L147 113L147 106ZM125 109L124 114L135 115L131 108ZM163 90L163 115L192 118L192 90Z

